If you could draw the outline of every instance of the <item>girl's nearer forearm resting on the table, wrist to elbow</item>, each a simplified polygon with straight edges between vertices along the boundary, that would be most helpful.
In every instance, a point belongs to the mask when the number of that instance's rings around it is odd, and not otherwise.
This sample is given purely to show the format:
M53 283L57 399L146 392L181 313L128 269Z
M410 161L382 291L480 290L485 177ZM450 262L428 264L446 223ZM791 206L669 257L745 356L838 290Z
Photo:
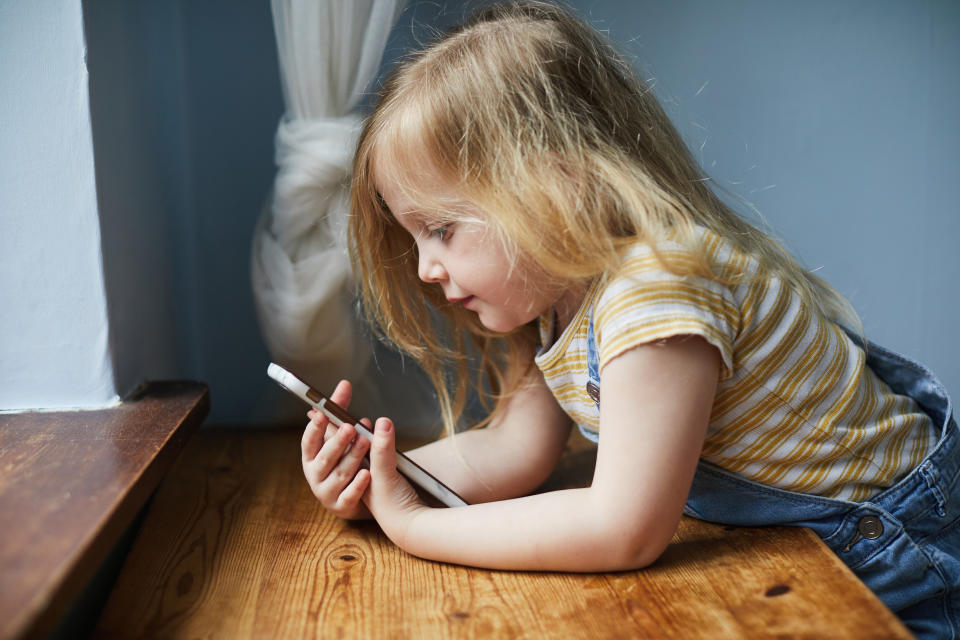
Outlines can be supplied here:
M618 571L653 562L675 518L621 517L589 488L456 509L422 509L385 530L413 555L491 569ZM629 524L627 524L629 523Z

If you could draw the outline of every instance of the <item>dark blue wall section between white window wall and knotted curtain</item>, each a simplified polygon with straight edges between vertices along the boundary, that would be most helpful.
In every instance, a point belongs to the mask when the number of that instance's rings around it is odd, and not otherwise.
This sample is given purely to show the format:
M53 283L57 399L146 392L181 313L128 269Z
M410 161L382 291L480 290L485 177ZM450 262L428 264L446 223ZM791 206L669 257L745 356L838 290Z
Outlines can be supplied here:
M203 380L209 422L265 422L249 255L283 110L269 2L97 0L84 19L118 389Z

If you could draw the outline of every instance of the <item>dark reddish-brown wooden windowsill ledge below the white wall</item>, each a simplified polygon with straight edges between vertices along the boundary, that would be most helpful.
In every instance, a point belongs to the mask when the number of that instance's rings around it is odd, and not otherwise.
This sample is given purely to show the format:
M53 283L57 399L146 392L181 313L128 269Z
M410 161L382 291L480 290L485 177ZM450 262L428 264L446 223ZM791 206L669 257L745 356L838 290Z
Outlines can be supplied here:
M42 636L206 416L199 383L96 411L0 415L0 638Z

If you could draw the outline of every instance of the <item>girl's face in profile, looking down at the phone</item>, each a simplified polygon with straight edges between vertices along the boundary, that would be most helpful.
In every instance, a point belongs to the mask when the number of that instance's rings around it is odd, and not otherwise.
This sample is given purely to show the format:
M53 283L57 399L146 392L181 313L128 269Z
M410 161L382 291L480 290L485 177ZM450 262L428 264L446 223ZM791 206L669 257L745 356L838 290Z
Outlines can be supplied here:
M438 284L447 300L475 312L487 329L512 331L552 308L565 293L524 267L522 260L511 266L478 208L458 203L457 211L464 213L460 221L436 223L394 182L378 180L377 188L397 222L413 237L420 279ZM429 195L442 193L434 184L420 188Z

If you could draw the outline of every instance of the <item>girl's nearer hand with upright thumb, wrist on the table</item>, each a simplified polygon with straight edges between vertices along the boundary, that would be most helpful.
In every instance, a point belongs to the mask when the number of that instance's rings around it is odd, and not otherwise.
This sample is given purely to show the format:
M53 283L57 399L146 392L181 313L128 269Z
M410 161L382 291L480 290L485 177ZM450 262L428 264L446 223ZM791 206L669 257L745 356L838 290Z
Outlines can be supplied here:
M370 445L370 487L363 501L384 533L400 548L410 522L428 509L413 485L397 471L396 434L390 418L379 418Z

